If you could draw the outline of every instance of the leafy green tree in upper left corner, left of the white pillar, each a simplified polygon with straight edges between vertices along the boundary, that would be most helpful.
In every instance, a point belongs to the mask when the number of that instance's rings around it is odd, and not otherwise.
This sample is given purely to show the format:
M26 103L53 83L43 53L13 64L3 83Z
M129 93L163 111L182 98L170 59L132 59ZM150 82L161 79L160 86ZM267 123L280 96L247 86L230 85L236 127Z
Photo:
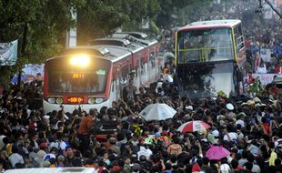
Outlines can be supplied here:
M16 66L0 66L0 82L28 63L43 63L63 48L65 32L74 25L71 10L80 0L1 0L0 42L19 40ZM1 86L0 83L0 86Z

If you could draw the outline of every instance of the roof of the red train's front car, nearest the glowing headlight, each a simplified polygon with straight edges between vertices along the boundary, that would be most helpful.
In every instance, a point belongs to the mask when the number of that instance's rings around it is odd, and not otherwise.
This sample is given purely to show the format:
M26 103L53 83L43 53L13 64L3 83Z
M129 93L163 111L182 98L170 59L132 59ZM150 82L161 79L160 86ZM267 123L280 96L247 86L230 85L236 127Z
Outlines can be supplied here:
M106 60L116 62L126 56L131 56L131 52L122 46L107 46L107 45L97 45L97 46L75 46L65 49L60 56L55 56L46 60L50 61L61 56L74 55L74 54L89 54L99 58L104 58Z

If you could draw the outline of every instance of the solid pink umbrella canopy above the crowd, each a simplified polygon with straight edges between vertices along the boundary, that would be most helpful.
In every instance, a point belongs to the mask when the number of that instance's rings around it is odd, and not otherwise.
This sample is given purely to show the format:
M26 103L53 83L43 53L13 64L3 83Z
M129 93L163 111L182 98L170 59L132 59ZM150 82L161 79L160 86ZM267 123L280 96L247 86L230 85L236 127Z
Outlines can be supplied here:
M221 158L226 158L230 155L230 152L227 150L227 148L224 148L222 146L211 146L206 151L206 158L213 159L213 160L219 160Z

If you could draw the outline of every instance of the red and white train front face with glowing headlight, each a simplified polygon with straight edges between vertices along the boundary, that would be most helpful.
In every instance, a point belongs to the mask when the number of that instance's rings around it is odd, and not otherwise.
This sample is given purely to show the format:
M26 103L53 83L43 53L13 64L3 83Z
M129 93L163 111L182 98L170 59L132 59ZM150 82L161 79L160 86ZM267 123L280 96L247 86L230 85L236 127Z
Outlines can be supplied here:
M65 55L45 62L44 111L60 110L72 113L80 107L100 109L108 106L107 84L111 62L89 55Z

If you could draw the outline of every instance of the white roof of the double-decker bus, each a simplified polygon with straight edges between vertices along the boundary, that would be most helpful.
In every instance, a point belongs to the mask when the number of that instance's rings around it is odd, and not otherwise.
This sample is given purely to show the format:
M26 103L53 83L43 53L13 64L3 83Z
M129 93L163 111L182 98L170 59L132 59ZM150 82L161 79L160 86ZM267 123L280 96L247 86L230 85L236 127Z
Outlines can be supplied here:
M193 22L191 24L185 25L178 29L179 31L186 31L190 29L206 29L206 28L217 28L217 27L233 27L240 24L241 21L237 19L227 19L227 20L208 20Z

